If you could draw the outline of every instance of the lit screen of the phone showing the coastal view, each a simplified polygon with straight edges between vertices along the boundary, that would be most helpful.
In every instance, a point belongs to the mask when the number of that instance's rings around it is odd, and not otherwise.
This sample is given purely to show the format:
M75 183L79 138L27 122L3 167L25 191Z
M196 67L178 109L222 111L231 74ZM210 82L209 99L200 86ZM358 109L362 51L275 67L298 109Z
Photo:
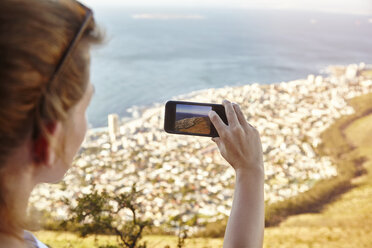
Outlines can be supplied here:
M211 122L208 113L211 110L211 106L177 104L175 131L209 135Z

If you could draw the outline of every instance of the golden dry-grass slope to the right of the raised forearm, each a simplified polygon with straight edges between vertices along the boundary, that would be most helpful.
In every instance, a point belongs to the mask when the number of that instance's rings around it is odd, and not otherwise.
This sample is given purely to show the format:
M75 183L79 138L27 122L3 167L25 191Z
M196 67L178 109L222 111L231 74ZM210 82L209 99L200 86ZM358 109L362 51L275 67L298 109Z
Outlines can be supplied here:
M336 163L356 167L352 189L320 213L289 217L265 230L264 247L363 248L372 244L372 94L355 98L356 113L323 134L323 150Z

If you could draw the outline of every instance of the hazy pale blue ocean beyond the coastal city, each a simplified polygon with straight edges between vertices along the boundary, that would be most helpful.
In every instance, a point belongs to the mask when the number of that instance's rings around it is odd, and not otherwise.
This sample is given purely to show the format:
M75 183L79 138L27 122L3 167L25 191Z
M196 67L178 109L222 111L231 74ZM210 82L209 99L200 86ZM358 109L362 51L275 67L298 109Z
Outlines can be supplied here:
M270 84L372 63L372 15L249 9L99 8L90 127L206 88ZM233 99L231 99L233 100Z

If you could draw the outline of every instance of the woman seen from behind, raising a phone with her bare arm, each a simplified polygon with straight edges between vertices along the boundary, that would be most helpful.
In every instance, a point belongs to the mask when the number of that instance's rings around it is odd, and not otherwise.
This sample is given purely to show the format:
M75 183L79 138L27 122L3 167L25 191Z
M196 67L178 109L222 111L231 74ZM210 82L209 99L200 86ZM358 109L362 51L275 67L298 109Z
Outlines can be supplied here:
M73 0L0 1L0 248L45 247L24 231L28 198L61 180L81 145L93 94L89 49L101 41L92 12ZM259 134L223 102L210 119L236 171L224 247L261 247L264 170Z

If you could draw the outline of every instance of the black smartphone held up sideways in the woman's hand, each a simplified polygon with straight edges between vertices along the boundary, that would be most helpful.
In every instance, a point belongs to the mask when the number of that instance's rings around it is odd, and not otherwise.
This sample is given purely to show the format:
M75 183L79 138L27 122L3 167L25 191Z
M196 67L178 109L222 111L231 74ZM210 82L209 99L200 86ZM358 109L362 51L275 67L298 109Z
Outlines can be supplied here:
M217 130L208 117L211 110L228 124L222 104L168 101L165 104L164 130L172 134L218 137Z

